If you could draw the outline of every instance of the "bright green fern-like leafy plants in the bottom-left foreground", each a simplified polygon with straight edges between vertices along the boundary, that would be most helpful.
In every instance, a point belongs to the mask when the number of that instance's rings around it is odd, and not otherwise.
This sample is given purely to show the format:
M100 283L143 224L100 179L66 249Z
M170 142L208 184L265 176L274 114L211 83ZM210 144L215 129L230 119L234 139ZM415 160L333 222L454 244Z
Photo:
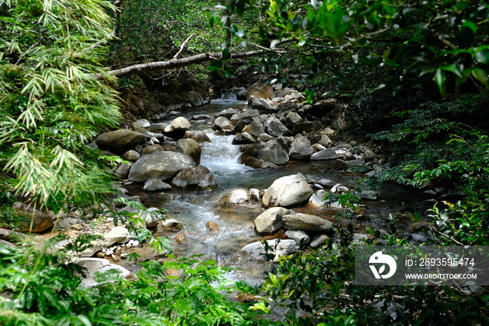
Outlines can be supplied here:
M214 261L179 259L141 263L134 281L107 272L94 288L51 239L43 246L0 244L1 325L260 325L247 305L232 302L227 269ZM175 269L180 276L166 276ZM108 281L108 282L106 282Z

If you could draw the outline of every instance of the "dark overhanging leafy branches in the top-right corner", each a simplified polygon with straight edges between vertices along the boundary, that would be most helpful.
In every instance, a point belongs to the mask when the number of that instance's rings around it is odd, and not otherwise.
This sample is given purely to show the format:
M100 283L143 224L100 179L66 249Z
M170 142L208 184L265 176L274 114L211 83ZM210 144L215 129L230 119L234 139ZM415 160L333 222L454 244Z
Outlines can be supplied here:
M238 0L234 8L255 8L260 45L300 52L302 66L334 82L329 94L421 89L423 76L441 93L460 94L468 80L488 87L489 8L477 2Z

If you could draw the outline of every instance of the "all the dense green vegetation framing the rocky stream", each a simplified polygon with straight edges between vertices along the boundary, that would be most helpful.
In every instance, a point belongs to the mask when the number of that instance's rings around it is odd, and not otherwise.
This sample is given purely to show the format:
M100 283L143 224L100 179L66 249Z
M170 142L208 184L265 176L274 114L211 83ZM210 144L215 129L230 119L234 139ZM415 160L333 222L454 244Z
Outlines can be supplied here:
M112 40L106 1L0 0L1 222L15 196L54 212L94 208L112 192L107 163L89 143L120 122L117 94L94 73L188 52L263 50L250 69L297 83L310 101L349 103L349 132L388 144L397 166L363 184L453 185L460 200L432 210L428 243L489 245L489 6L474 1L126 1ZM200 10L214 6L213 10ZM231 17L232 24L228 24ZM232 38L226 40L224 27ZM112 40L112 41L111 41ZM110 52L106 52L110 47ZM195 82L212 71L194 67ZM235 73L239 74L238 69ZM177 71L175 71L177 73ZM187 72L186 72L187 73ZM298 80L297 76L304 75ZM292 77L292 78L291 78ZM152 80L149 78L149 80ZM119 87L151 83L120 80ZM372 123L374 122L374 123ZM147 262L136 281L81 288L66 250L0 247L4 325L272 325L257 312L286 306L279 325L484 325L487 290L358 287L352 230L341 241L281 260L263 286L229 285L215 262ZM409 246L395 228L391 246ZM377 243L371 240L369 243ZM68 248L80 250L81 248ZM166 276L166 269L182 276ZM49 282L48 282L49 280ZM256 295L233 302L232 291ZM273 303L273 304L272 304ZM255 311L255 312L254 312Z

